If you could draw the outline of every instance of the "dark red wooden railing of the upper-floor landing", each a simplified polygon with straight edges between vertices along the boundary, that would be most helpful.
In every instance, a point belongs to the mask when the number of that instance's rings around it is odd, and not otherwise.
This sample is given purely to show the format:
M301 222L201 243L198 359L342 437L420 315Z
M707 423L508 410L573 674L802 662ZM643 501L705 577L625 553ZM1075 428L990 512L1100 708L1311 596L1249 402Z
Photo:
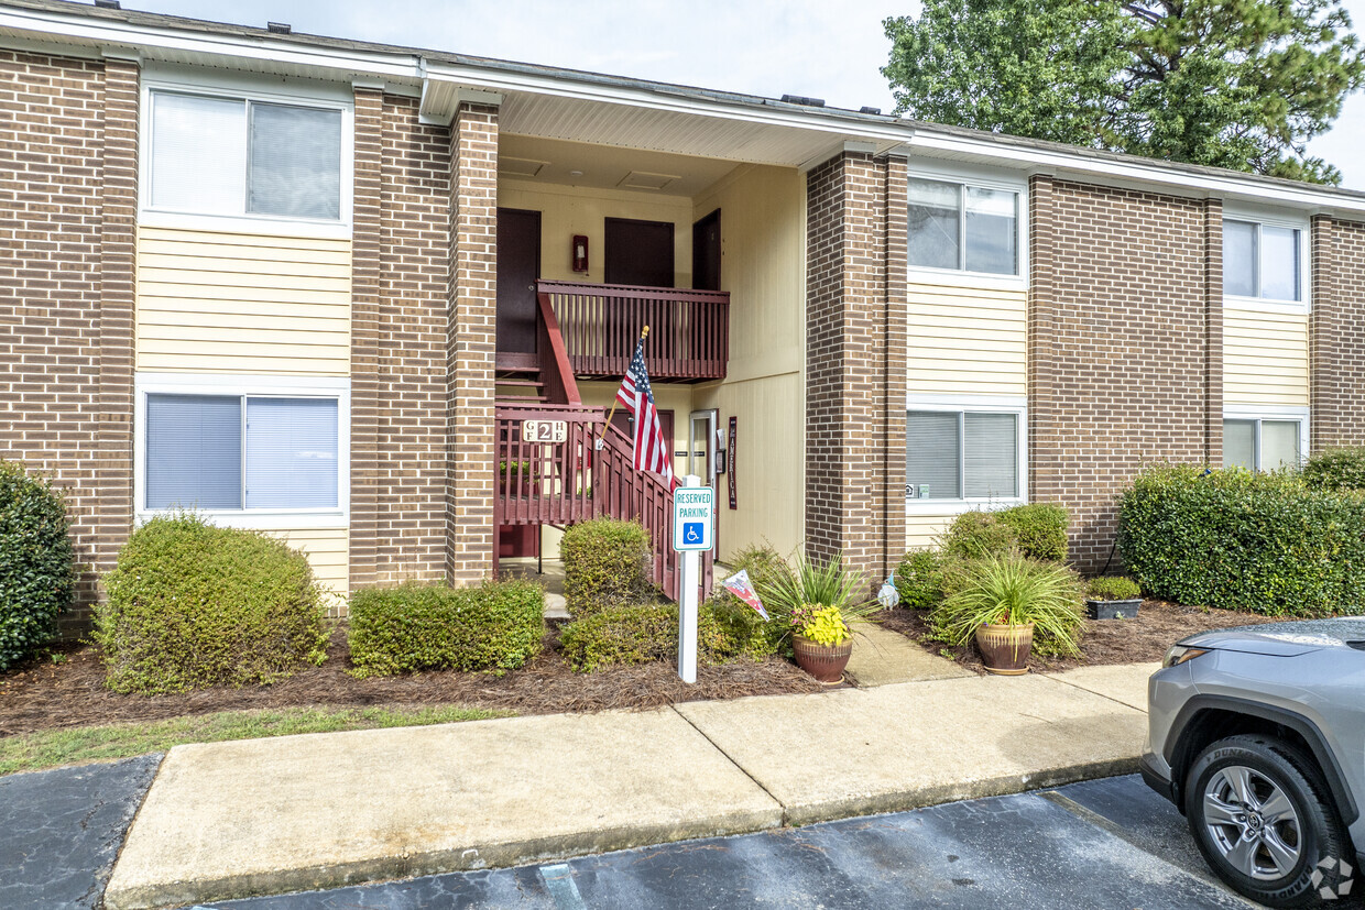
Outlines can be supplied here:
M725 378L730 357L726 291L572 281L539 281L536 291L549 302L542 303L542 312L557 317L576 375L625 375L640 329L650 326L644 363L651 379Z

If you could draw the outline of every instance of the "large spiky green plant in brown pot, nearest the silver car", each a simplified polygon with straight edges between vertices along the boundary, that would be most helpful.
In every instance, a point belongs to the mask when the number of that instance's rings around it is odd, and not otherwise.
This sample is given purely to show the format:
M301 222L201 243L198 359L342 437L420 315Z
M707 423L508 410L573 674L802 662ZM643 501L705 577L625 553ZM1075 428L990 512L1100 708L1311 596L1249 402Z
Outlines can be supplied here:
M975 640L991 673L1028 673L1035 639L1050 651L1078 656L1081 584L1070 569L1017 553L973 559L956 572L951 593L934 608L949 644Z

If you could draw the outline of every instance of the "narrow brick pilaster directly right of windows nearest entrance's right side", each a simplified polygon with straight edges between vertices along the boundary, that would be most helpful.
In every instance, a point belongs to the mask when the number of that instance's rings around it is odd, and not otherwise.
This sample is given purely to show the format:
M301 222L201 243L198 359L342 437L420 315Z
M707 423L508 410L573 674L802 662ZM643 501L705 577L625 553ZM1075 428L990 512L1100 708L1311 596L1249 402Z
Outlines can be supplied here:
M1057 502L1061 457L1055 438L1058 312L1052 177L1031 177L1028 195L1028 497L1029 502Z

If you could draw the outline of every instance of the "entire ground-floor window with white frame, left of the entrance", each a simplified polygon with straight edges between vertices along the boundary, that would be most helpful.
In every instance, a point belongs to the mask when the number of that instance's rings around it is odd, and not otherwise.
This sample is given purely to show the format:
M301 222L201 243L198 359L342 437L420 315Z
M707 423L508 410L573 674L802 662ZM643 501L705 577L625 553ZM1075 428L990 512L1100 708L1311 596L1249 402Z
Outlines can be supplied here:
M334 520L347 490L344 381L205 379L139 382L139 512Z

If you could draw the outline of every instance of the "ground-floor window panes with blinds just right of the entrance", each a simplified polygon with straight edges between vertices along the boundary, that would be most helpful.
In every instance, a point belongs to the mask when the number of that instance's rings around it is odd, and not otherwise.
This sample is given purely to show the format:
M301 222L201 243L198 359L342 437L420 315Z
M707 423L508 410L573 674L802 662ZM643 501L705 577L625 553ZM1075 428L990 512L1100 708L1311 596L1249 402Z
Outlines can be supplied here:
M906 495L916 499L1020 497L1020 415L908 411Z

